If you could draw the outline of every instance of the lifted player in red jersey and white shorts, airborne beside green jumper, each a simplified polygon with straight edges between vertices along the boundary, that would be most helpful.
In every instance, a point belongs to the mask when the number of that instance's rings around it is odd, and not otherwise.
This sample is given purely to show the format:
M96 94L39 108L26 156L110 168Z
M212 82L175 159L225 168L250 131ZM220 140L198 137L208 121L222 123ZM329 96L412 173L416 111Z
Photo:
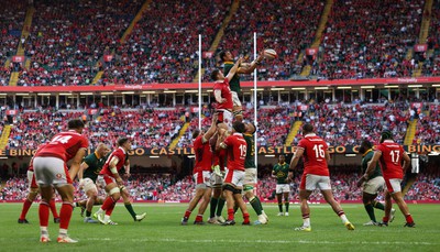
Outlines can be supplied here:
M229 81L235 75L235 72L240 64L243 62L243 58L239 58L234 66L231 68L229 74L224 77L223 73L219 69L215 69L211 73L211 78L215 80L213 85L213 96L217 101L217 113L219 114L219 123L224 123L228 127L228 130L232 129L232 110L233 110L233 100L231 88L229 87Z

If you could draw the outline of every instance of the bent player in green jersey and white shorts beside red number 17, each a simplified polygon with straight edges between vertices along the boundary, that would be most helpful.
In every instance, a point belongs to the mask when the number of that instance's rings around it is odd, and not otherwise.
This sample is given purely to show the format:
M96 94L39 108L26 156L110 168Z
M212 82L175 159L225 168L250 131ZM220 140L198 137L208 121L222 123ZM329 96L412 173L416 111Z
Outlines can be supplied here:
M362 154L361 172L362 174L365 174L369 163L373 158L373 144L370 141L364 140L359 147L359 153ZM383 211L385 210L385 206L382 202L375 200L377 194L385 186L385 179L382 176L382 171L378 163L376 164L376 167L374 168L373 173L371 173L367 179L365 179L365 177L363 176L359 179L358 186L363 187L362 201L370 217L370 221L364 223L364 226L377 226L378 223L374 215L374 208L381 209ZM395 211L395 209L392 209L389 221L394 220Z

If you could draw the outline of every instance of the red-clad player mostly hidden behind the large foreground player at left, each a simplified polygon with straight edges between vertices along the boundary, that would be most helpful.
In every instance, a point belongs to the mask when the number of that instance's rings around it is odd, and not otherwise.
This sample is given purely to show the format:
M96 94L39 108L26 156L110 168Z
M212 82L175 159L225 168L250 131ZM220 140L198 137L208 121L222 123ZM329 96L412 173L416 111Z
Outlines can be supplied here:
M46 144L41 144L38 146L38 149L36 150L35 155ZM31 208L32 202L35 200L36 195L40 191L38 185L36 184L36 180L35 180L33 161L34 161L34 157L32 157L31 162L29 163L29 169L28 169L29 194L28 194L26 199L23 202L23 208L21 210L21 215L20 215L20 218L19 218L19 221L18 221L21 224L22 223L26 223L26 224L29 223L29 221L26 219L28 211ZM59 216L58 216L58 212L56 212L56 206L55 206L55 195L54 195L54 197L52 197L52 199L50 201L50 205L51 205L52 215L54 216L54 222L55 223L59 223Z

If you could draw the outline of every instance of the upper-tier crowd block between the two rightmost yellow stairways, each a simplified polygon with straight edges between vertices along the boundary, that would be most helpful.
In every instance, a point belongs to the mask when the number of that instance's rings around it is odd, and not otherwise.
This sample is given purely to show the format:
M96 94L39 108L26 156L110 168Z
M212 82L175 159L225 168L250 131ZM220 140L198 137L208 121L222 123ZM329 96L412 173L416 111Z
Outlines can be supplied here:
M312 73L321 78L411 76L424 1L336 1Z

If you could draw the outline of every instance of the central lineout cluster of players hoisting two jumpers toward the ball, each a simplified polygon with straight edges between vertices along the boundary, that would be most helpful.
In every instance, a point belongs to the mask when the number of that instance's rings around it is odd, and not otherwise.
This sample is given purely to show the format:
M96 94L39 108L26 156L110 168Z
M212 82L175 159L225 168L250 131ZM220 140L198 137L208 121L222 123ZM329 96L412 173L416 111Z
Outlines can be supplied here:
M243 63L243 58L233 63L230 52L220 54L224 63L224 74L218 69L211 73L215 80L213 92L217 101L212 124L206 132L196 130L193 134L196 162L193 171L196 182L196 195L189 202L188 209L182 220L187 224L191 211L204 198L199 206L195 224L204 224L202 216L210 202L209 223L223 226L235 224L234 213L238 208L243 213L242 224L251 224L244 196L251 202L258 220L254 223L267 223L262 204L253 194L256 184L256 166L254 163L255 125L244 123L241 113L241 102L238 97L240 91L240 77L238 74L250 74L263 61L261 54L251 64ZM233 118L235 120L233 120ZM228 169L226 169L228 166ZM222 177L224 174L224 179ZM224 205L228 209L228 219L221 217Z

